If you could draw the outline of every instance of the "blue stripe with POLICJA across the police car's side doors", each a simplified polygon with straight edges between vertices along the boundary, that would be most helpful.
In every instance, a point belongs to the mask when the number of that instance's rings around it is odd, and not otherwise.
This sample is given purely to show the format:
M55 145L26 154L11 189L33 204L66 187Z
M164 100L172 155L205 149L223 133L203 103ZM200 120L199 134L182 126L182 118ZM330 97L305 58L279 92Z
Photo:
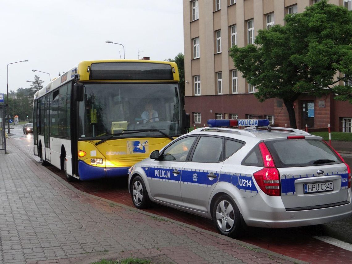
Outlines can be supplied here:
M156 181L176 182L182 184L190 184L195 186L210 187L216 183L219 179L219 171L213 173L217 175L216 178L208 178L207 175L212 172L211 170L194 170L194 169L183 169L176 167L164 167L164 166L142 166L148 179ZM176 176L172 173L177 169L180 174Z

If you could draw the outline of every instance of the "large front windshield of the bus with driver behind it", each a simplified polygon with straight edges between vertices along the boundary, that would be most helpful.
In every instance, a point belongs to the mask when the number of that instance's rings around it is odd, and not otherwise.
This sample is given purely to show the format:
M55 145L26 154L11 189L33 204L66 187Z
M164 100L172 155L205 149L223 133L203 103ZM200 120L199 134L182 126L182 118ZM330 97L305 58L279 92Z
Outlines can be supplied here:
M177 90L178 84L170 83L84 84L79 137L165 137L160 131L180 136L183 130ZM136 130L140 131L129 133Z

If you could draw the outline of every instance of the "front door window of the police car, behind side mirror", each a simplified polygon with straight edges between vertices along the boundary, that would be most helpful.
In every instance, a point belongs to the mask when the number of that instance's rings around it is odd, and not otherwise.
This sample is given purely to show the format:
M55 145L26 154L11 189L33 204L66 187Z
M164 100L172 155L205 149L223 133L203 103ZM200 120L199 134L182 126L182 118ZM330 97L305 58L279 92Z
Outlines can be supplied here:
M187 155L197 137L186 137L177 140L163 152L162 161L186 161Z

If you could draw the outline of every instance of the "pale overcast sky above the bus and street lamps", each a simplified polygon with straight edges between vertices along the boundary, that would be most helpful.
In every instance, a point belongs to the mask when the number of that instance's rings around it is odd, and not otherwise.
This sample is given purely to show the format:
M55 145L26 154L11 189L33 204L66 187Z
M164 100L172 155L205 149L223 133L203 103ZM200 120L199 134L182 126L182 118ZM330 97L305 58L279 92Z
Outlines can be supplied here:
M182 0L0 0L0 93L45 86L91 59L175 58L183 51ZM6 96L6 95L5 95Z

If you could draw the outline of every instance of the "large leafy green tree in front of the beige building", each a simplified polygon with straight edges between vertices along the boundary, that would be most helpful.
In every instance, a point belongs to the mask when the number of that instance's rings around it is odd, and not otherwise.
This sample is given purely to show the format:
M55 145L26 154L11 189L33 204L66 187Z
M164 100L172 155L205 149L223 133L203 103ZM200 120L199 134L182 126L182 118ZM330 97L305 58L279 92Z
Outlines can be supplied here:
M283 100L290 126L296 128L293 103L302 93L321 97L333 92L334 99L352 103L352 12L322 0L284 21L285 26L259 30L254 45L234 46L230 56L258 89L259 101Z

